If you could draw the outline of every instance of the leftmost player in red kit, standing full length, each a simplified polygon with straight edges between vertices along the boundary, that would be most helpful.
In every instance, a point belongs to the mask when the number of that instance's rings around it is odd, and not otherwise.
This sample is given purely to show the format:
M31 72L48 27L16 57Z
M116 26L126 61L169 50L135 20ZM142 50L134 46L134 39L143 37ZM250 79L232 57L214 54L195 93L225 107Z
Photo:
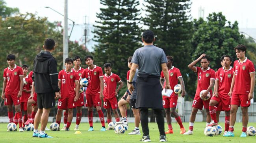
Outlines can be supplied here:
M23 71L20 66L15 64L15 55L9 54L6 59L9 67L4 69L2 99L4 99L4 105L7 106L9 123L13 123L14 104L15 112L19 121L19 131L23 132L22 113L20 110L20 97L22 95L23 88Z

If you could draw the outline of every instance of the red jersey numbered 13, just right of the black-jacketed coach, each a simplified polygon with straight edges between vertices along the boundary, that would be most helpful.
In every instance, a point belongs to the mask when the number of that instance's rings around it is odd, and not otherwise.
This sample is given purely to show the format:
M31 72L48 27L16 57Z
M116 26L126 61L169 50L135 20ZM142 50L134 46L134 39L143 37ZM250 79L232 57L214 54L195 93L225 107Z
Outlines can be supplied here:
M71 69L71 72L66 72L65 70L61 70L58 75L59 81L61 81L61 97L72 97L76 95L76 91L74 90L75 81L79 80L79 76L76 72L73 72L73 69Z

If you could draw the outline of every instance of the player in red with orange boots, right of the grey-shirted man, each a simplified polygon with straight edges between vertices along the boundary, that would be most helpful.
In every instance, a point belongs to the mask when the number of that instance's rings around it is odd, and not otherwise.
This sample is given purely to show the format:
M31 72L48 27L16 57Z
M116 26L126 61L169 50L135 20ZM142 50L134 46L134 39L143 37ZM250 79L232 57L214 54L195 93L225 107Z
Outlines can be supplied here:
M178 81L180 81L180 84L182 86L181 97L185 97L185 85L184 85L184 81L183 81L182 75L180 73L180 70L173 66L173 57L172 56L167 56L167 61L168 61L167 68L168 68L168 73L170 75L169 81L170 81L171 89L174 89L174 86L176 84L178 84ZM166 83L164 81L163 71L161 72L160 84L161 84L162 88L164 89ZM163 96L163 108L165 108L166 121L168 124L168 131L165 132L165 134L173 134L171 114L173 114L177 123L180 125L180 134L184 134L186 132L186 129L182 125L180 116L176 112L177 101L178 101L178 94L175 94L174 92L170 97Z

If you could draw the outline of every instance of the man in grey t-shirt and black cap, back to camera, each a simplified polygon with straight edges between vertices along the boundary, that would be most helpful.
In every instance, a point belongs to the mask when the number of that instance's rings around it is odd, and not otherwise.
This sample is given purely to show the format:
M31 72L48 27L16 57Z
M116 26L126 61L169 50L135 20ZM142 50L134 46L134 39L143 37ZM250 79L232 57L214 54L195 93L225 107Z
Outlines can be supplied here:
M160 142L167 141L164 130L163 104L160 85L160 71L163 70L166 86L165 89L171 89L169 84L169 74L167 68L167 58L163 49L153 45L154 33L150 30L143 32L142 41L144 47L137 49L132 57L132 68L130 70L128 89L133 92L132 84L136 68L139 67L137 75L137 101L136 108L140 110L141 127L143 137L141 141L150 141L148 129L148 108L154 110L156 122L160 132Z

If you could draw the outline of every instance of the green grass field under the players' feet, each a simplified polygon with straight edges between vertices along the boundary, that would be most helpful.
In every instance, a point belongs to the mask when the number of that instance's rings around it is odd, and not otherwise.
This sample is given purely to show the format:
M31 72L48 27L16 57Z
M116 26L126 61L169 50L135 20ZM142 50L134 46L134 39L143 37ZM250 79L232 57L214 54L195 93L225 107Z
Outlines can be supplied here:
M61 128L63 124L61 124ZM139 142L142 137L142 130L141 135L128 135L128 132L131 132L134 128L134 123L129 124L129 129L122 135L117 135L114 133L113 130L107 130L106 132L100 132L100 123L94 123L94 130L93 132L88 132L89 124L88 123L81 123L80 124L80 131L82 134L74 134L74 126L75 123L71 124L70 131L47 131L46 133L50 136L53 136L53 139L42 139L42 138L33 138L32 132L6 132L7 130L7 123L0 124L0 143L133 143ZM224 129L224 123L220 123L220 125ZM256 127L256 123L249 123L249 126ZM50 123L48 123L48 128L50 127ZM184 123L184 127L188 129L188 123ZM169 142L172 143L180 143L180 142L190 142L190 143L255 143L256 136L247 137L247 138L240 138L242 124L236 123L235 125L235 137L223 137L221 136L213 136L213 137L206 137L204 136L204 127L205 123L199 122L195 123L193 135L184 136L179 134L180 129L178 124L173 123L174 134L167 134L167 139ZM165 125L167 128L167 124ZM159 132L156 123L149 123L150 129L150 139L152 142L159 142Z

